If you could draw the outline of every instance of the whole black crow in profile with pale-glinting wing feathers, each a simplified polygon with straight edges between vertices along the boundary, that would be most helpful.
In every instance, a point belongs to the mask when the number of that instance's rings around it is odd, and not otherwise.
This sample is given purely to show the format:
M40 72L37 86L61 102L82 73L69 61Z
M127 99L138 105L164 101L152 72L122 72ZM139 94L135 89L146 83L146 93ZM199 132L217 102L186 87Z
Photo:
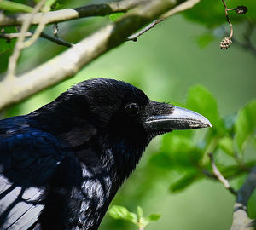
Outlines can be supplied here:
M196 112L96 78L0 121L0 229L97 229L156 135L211 127Z

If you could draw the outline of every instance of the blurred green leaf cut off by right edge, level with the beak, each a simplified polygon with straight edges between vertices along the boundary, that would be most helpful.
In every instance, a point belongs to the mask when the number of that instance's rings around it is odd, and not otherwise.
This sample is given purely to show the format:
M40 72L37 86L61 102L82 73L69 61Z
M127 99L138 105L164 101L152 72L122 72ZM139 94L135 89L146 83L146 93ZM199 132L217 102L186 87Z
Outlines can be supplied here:
M249 102L238 112L236 120L236 143L241 152L244 152L247 142L255 135L255 114L256 99Z

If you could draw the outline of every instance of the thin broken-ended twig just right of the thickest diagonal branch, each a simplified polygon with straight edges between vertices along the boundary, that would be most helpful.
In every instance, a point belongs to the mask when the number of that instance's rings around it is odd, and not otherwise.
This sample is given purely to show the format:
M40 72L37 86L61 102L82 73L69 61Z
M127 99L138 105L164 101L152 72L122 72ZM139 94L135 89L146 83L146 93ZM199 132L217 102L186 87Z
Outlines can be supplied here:
M145 26L139 32L137 32L135 34L132 34L131 36L127 37L127 40L136 42L138 37L143 35L143 33L148 32L150 29L154 28L154 26L159 24L161 21L166 20L167 18L169 18L173 14L177 14L179 12L182 12L182 11L186 10L186 9L191 9L193 6L195 6L196 3L199 3L199 2L200 2L200 0L189 0L189 1L186 1L184 3L181 3L180 5L178 5L177 7L169 10L165 14L162 14L159 19L154 20L153 22L148 24L148 26Z

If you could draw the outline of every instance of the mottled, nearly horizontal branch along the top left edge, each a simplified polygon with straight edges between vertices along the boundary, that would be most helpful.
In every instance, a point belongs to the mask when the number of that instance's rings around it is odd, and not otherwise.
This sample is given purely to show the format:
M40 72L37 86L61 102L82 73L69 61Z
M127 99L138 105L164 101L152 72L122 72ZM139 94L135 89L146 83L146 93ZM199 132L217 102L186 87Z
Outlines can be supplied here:
M91 16L105 16L117 12L126 12L144 1L145 0L123 0L113 3L92 4L75 9L55 10L46 14L38 13L33 15L31 24L38 25L43 18L45 25L47 25ZM20 26L29 15L30 14L0 14L0 26Z

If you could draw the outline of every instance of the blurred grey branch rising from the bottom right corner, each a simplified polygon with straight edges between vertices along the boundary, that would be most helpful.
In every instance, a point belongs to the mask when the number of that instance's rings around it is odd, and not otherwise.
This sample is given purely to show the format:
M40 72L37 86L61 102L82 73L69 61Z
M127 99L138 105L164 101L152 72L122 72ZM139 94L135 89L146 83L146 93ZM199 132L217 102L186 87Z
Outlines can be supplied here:
M256 166L250 171L247 180L237 192L231 230L253 230L256 226L255 220L250 219L247 214L247 203L255 187Z

